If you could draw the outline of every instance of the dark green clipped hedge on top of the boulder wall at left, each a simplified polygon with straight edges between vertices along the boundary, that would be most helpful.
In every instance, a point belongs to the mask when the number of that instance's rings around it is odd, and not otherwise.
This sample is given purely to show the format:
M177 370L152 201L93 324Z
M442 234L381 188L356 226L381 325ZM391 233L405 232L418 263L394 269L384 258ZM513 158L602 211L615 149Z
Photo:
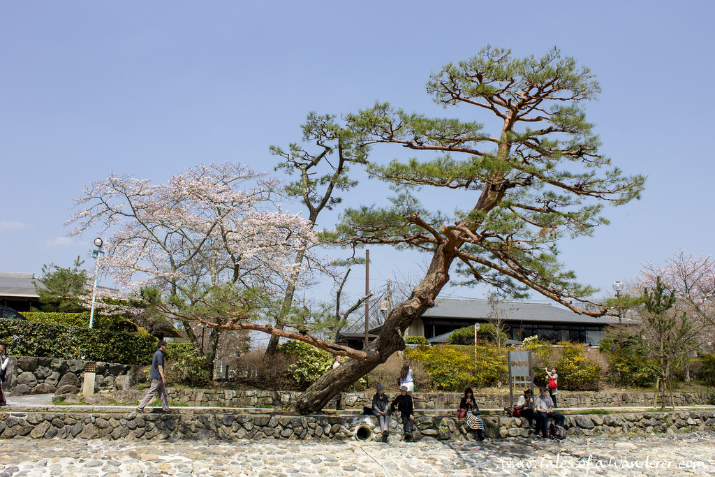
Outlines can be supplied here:
M71 328L30 320L0 319L0 340L18 356L104 361L128 365L152 362L157 338L128 331Z

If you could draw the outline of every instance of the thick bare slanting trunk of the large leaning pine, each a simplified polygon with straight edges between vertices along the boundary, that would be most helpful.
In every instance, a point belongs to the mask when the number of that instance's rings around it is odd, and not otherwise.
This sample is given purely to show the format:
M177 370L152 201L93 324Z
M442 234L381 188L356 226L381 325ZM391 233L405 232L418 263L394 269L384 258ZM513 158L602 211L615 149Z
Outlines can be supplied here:
M407 300L393 308L385 319L380 336L365 348L367 360L350 359L322 375L292 404L293 410L298 413L319 412L337 393L385 363L395 351L405 349L403 332L434 305L435 297L449 281L454 251L447 243L438 246L425 278Z

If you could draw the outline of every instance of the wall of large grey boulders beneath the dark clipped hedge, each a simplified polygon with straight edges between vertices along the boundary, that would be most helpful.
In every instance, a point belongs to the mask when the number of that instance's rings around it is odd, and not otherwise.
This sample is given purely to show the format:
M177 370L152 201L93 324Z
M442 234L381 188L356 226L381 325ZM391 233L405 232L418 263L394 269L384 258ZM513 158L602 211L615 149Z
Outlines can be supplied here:
M10 378L4 383L3 389L11 395L76 394L84 382L84 361L81 360L13 356L8 366L7 375ZM146 378L139 366L99 362L94 390L129 389L142 380Z

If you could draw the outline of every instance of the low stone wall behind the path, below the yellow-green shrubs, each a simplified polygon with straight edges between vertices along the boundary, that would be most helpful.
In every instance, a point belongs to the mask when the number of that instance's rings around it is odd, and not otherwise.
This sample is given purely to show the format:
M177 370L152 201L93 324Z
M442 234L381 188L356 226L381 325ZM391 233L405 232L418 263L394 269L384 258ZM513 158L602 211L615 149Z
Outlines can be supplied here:
M292 402L300 393L297 391L264 390L201 390L169 388L169 398L177 403L199 406L277 408ZM418 409L456 409L462 398L456 393L415 393L415 408ZM507 394L475 394L480 408L501 409L509 405ZM516 399L518 395L514 396ZM676 405L708 404L706 393L674 393ZM373 393L343 393L342 407L345 409L363 409L372 405ZM652 407L653 393L558 393L560 408L613 408L613 407ZM332 408L332 405L327 406Z

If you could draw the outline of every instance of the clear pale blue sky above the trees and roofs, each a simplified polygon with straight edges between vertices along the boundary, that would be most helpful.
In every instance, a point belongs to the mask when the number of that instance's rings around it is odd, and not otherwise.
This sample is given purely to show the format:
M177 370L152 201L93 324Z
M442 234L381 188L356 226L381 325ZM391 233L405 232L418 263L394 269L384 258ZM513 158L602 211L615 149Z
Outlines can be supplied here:
M601 82L588 119L602 152L649 177L641 201L607 212L610 227L563 244L581 280L610 291L642 263L713 250L714 16L712 1L3 2L0 271L86 256L94 237L66 237L63 223L71 198L109 172L162 182L200 162L272 170L268 147L299 139L307 112L388 100L455 114L425 93L430 72L486 44L515 56L556 45ZM385 191L363 182L349 202ZM375 285L415 267L413 255L371 255Z

